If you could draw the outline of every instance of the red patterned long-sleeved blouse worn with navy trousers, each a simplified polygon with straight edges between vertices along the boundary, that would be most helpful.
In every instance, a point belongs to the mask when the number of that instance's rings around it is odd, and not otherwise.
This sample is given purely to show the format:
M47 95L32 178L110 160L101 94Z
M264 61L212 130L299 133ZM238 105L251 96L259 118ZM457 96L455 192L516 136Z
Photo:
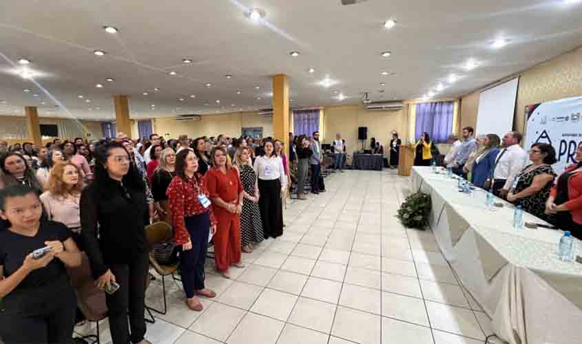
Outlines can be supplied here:
M204 177L198 175L198 180L200 182L196 182L194 178L189 178L189 182L185 182L176 175L176 177L172 178L172 182L169 183L166 191L169 210L172 211L172 222L174 223L174 241L178 245L186 244L190 240L190 234L184 221L185 216L200 215L209 211L210 223L216 225L216 217L214 217L212 207L205 208L198 200L198 193L209 197L208 190L204 185Z

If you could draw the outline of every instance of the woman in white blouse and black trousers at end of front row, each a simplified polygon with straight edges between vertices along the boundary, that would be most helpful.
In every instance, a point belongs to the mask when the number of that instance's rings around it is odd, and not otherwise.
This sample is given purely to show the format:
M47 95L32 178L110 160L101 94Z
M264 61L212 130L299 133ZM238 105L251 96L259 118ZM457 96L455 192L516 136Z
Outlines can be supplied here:
M253 169L258 176L260 215L264 237L267 239L283 234L281 193L287 188L287 177L272 140L264 140L263 151L264 155L255 159Z

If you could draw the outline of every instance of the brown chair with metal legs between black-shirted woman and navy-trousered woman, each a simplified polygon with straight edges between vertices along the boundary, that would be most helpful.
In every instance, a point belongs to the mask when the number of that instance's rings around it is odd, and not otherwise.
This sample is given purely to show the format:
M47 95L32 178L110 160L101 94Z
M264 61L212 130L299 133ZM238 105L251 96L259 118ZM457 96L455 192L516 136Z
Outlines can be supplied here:
M150 224L149 226L145 227L145 237L147 241L149 241L150 245L163 243L167 241L171 241L172 238L172 226L167 224L166 222L156 222L155 224ZM158 314L165 315L167 313L167 299L166 299L166 283L165 277L166 276L174 276L174 272L178 270L179 264L173 265L163 265L156 261L156 257L154 257L153 252L149 252L149 264L156 270L158 275L162 277L162 290L164 294L164 310L156 310L155 308L148 307L147 305L145 308L147 310L152 310Z

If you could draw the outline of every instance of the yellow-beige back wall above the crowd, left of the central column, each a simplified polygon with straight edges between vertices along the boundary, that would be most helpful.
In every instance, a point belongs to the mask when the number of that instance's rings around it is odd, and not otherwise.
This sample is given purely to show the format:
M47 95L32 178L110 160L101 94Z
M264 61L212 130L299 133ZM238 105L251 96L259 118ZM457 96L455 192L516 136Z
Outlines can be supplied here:
M273 136L273 119L256 112L235 112L223 115L202 115L202 120L178 121L174 117L154 119L154 131L165 138L178 138L187 134L198 136L218 136L223 133L238 138L242 127L262 127L263 136Z

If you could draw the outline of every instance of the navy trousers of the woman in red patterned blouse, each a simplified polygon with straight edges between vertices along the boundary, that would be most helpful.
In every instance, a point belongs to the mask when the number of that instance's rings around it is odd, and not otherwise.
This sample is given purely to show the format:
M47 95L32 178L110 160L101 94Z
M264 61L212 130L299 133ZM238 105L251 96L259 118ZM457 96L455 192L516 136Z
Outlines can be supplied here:
M187 216L184 222L190 233L192 248L180 251L180 272L186 297L191 299L196 290L204 289L204 263L208 248L210 213Z

